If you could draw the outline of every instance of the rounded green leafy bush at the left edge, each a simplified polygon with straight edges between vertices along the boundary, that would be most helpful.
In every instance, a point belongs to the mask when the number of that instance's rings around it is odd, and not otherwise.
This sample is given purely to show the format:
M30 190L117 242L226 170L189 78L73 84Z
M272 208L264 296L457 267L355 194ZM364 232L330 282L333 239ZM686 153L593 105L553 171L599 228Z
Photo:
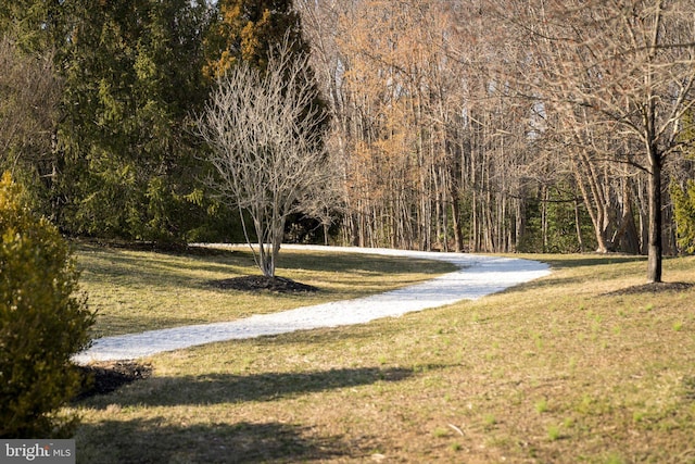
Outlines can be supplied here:
M58 229L0 180L0 437L64 438L77 418L60 409L80 375L71 356L89 344L93 313Z

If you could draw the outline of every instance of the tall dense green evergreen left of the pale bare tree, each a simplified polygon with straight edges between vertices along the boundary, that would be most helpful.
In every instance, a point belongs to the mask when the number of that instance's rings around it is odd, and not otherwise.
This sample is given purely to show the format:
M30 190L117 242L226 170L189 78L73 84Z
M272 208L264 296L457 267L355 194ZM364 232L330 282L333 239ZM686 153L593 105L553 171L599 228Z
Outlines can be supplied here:
M65 227L185 239L201 213L187 199L198 165L187 121L206 96L206 4L77 0L65 8Z

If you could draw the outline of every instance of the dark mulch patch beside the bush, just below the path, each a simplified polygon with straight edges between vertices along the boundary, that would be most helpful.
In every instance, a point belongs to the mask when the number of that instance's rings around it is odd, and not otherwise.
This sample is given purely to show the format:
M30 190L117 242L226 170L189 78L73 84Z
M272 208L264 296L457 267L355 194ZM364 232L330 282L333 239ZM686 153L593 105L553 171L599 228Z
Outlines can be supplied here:
M106 394L135 380L152 375L152 367L131 361L115 361L78 366L83 375L83 385L75 401L97 394Z

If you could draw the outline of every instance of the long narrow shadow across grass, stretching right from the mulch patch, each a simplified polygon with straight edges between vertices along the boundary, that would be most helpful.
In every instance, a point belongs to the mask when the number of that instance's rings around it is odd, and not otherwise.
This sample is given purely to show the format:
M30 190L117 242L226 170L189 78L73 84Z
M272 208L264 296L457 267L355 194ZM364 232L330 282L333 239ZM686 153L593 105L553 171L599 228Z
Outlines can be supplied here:
M200 376L152 377L138 381L117 394L97 397L88 405L175 406L273 401L294 394L400 381L413 375L404 368L341 368L308 373L268 373L256 375L205 374Z

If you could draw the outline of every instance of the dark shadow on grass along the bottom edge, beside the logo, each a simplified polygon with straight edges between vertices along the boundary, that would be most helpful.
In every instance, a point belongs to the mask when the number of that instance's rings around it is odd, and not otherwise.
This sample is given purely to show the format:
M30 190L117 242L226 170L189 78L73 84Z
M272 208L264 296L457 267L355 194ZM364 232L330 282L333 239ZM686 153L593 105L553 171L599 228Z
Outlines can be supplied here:
M351 452L341 437L312 437L279 423L163 425L160 418L85 424L78 463L258 463L321 461Z

